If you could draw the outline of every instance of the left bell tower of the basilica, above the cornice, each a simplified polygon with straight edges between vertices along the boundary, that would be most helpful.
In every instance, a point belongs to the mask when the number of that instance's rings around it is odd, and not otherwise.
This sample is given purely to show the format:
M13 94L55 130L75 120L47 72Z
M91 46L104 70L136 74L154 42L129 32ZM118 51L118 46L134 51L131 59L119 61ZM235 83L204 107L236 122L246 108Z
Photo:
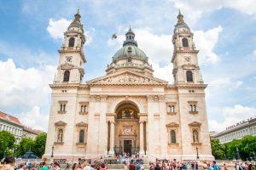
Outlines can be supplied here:
M59 63L54 84L81 83L84 77L84 28L80 22L79 9L72 23L64 32L64 40L59 50Z

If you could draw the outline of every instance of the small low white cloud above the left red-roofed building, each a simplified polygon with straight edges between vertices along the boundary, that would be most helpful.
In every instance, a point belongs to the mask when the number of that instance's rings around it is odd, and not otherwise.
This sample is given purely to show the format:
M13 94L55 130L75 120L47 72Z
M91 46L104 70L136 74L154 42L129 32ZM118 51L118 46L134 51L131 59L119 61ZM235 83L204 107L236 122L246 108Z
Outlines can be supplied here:
M20 114L20 121L22 122L22 124L28 127L47 132L49 115L42 114L40 112L40 107L38 105L35 105L32 107L31 111L22 112Z

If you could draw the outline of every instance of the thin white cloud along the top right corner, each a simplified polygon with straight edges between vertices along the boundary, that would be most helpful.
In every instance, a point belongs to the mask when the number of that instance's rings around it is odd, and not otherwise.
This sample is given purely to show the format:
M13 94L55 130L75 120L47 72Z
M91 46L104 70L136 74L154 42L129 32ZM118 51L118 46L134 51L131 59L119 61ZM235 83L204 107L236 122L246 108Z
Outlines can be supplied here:
M256 17L256 1L254 0L172 0L174 7L181 8L183 13L188 16L190 23L195 24L201 15L219 8L234 8L245 14Z

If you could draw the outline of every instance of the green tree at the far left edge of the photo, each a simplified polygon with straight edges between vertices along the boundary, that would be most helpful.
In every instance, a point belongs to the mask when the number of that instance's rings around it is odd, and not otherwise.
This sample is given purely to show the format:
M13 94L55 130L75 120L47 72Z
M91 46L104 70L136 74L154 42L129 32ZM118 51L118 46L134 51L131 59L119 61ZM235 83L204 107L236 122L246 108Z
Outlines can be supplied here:
M0 158L12 154L15 147L15 135L8 131L0 131Z

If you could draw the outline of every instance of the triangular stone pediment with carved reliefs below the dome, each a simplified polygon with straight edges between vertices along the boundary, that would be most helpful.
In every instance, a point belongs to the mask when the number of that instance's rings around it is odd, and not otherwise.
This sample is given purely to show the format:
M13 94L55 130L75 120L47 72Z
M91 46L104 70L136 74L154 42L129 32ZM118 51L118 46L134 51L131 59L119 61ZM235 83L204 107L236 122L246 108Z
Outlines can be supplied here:
M87 84L149 84L149 85L165 85L168 82L159 78L146 76L134 71L119 71L113 74L106 75L104 77L98 77L87 82Z

